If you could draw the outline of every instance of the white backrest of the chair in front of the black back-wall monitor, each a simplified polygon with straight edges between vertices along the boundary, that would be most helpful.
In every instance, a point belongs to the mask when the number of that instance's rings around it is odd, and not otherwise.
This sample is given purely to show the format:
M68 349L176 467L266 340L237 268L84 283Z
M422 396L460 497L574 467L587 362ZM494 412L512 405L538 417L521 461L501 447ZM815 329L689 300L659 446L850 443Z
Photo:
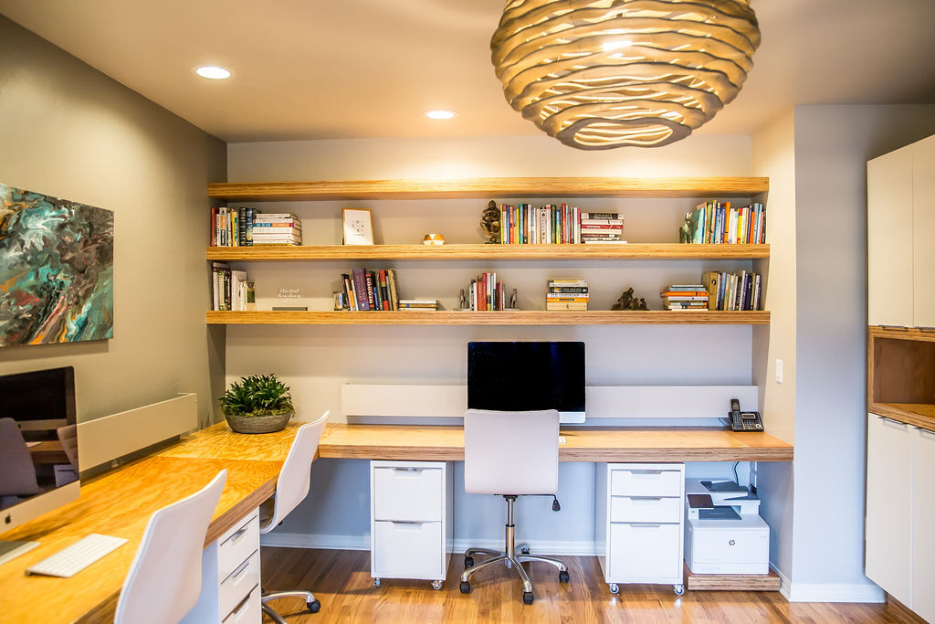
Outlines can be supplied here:
M558 412L468 410L465 489L470 494L558 491Z

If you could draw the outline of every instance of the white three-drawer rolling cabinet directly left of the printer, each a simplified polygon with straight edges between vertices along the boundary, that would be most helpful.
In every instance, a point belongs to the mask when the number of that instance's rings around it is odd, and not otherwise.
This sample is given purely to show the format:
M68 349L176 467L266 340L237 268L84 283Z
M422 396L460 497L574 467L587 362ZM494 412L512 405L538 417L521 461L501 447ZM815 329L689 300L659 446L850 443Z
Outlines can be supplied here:
M596 464L597 558L611 593L620 583L671 584L682 595L685 467Z

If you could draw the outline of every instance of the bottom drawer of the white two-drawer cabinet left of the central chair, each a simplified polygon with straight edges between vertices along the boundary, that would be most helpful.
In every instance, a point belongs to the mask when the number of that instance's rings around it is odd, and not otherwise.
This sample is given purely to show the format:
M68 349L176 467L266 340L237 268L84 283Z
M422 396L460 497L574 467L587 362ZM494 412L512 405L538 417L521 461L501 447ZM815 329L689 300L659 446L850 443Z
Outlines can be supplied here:
M375 578L443 579L440 522L374 522Z

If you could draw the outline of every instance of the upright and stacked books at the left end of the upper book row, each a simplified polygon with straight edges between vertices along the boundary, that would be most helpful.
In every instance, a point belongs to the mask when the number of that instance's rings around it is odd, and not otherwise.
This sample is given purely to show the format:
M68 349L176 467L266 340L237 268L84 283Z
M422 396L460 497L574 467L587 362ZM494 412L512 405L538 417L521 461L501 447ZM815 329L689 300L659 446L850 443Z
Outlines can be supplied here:
M301 245L302 221L289 212L212 208L211 247Z

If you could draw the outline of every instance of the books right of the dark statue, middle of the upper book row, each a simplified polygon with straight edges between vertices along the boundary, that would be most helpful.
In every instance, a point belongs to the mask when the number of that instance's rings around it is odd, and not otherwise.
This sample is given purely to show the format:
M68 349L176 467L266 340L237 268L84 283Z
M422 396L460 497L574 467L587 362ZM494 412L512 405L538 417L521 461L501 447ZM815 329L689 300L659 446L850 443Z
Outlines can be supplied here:
M622 242L623 228L617 212L582 212L568 204L500 206L500 242L504 244Z

